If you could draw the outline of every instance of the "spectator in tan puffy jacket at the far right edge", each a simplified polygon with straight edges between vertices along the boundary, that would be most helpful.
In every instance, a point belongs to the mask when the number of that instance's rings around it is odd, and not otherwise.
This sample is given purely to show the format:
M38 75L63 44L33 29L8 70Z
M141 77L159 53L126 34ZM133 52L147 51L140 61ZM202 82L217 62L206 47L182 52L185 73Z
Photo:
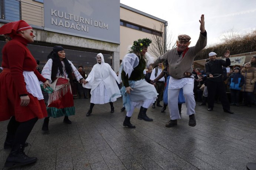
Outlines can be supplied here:
M241 70L241 74L245 77L241 91L243 91L244 105L251 107L253 101L253 90L256 81L256 68L251 63L245 63L245 68Z

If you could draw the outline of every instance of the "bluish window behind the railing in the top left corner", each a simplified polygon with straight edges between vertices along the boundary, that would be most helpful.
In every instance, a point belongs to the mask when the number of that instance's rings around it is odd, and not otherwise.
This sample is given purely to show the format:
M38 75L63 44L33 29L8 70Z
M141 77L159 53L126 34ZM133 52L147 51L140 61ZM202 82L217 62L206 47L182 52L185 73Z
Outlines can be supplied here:
M1 19L19 21L21 20L20 1L0 0Z

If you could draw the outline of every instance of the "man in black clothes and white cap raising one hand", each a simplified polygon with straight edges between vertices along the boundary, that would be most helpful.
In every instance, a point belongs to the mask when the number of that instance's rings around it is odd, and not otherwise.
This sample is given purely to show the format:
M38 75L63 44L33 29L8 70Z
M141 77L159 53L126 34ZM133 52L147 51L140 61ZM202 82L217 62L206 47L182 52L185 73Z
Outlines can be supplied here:
M225 53L226 61L223 59L216 59L217 54L215 52L209 53L209 61L205 63L205 72L208 76L207 90L208 90L208 111L212 111L214 107L215 95L219 94L220 101L222 103L223 110L227 113L233 114L230 111L229 100L227 99L226 87L223 82L223 69L222 66L230 66L230 52Z

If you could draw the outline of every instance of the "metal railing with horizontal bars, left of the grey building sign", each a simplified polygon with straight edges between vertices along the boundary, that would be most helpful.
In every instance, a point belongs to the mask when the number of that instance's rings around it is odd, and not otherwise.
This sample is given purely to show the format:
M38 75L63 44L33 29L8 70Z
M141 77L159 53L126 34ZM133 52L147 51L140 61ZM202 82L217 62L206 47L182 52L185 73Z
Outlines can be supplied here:
M28 24L44 27L44 7L21 0L0 0L0 18L10 21L25 20Z

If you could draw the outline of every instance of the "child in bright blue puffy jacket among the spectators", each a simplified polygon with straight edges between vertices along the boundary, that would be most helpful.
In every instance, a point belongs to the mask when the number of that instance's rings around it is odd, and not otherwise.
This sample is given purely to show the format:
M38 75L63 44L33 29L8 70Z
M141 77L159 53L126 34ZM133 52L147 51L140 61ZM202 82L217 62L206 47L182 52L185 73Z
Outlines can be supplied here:
M240 74L240 68L235 67L234 68L234 74L231 74L228 81L228 86L230 89L230 98L231 98L231 104L230 105L236 105L239 106L239 93L241 90L241 87L245 83L245 77Z

